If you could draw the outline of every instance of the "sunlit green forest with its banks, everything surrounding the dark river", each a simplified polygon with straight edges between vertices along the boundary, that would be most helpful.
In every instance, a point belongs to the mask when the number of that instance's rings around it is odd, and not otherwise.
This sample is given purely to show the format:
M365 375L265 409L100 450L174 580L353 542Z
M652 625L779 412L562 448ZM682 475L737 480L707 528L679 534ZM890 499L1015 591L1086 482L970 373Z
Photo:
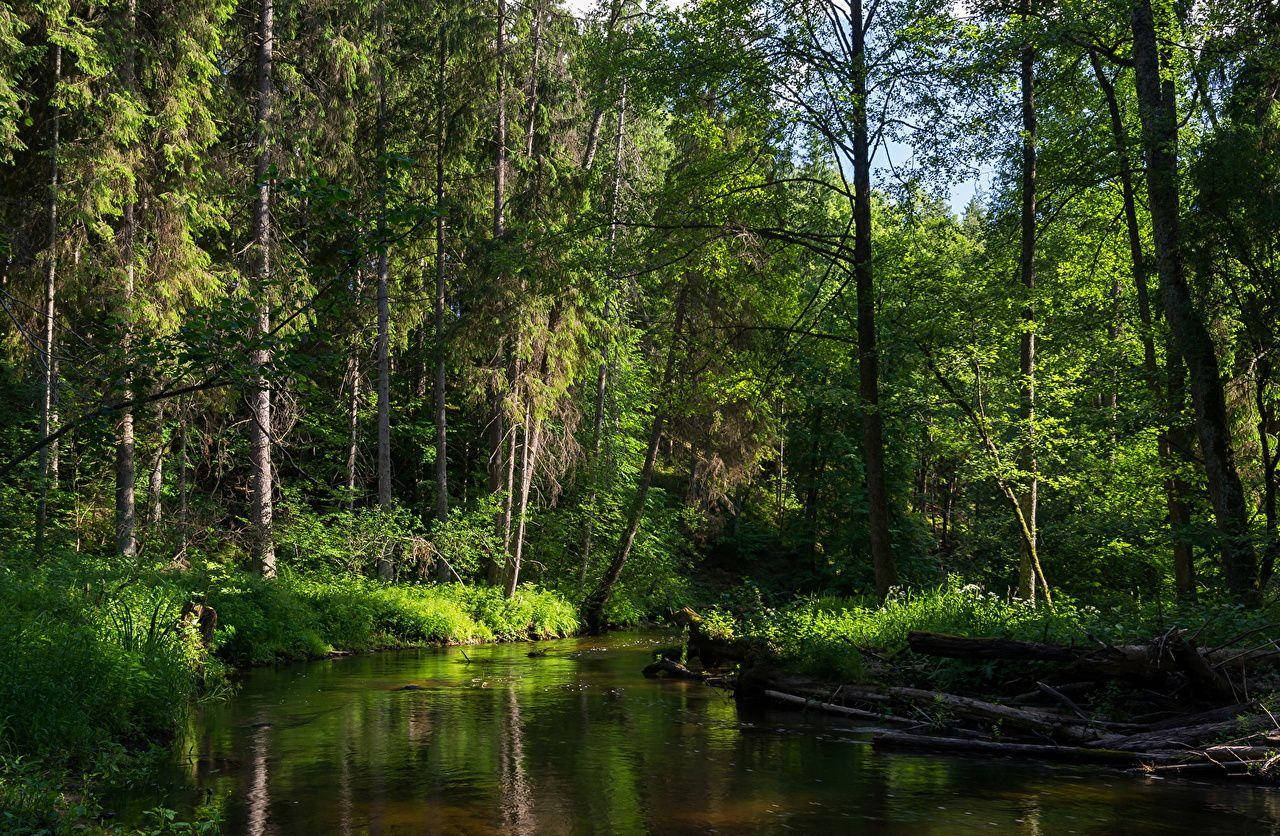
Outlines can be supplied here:
M664 623L1280 772L1276 0L0 0L0 830L255 666Z

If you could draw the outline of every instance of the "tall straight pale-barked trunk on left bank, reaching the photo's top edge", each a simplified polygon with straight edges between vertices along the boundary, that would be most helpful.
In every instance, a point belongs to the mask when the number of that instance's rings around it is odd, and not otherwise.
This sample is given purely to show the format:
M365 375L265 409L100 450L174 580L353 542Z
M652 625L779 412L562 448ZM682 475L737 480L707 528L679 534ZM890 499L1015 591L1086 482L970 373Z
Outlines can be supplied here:
M271 526L271 387L266 367L271 352L265 341L271 333L271 181L270 125L275 97L273 82L273 50L275 46L275 6L273 0L261 0L257 35L257 101L253 179L257 200L253 205L253 294L257 300L257 323L250 358L253 366L253 387L250 393L250 443L252 446L253 497L250 518L253 525L253 558L264 577L275 576L275 543Z

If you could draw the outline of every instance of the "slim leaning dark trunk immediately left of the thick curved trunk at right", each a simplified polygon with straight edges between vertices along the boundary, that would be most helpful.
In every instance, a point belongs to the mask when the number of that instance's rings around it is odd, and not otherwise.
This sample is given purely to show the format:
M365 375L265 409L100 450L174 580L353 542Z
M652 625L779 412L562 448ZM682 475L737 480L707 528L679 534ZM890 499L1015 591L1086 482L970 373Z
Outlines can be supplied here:
M1151 292L1147 287L1149 268L1147 257L1142 251L1142 229L1138 225L1138 201L1133 186L1133 161L1129 156L1129 134L1120 114L1120 102L1116 97L1115 84L1102 69L1096 51L1089 51L1089 60L1093 64L1093 74L1098 79L1098 86L1107 100L1107 113L1111 118L1111 137L1115 142L1116 155L1120 163L1120 195L1124 201L1125 232L1129 237L1129 259L1133 264L1133 284L1138 297L1138 324L1142 338L1142 364L1147 385L1151 389L1156 403L1165 403L1166 407L1175 407L1169 411L1169 426L1160 434L1157 440L1157 453L1161 470L1165 472L1165 504L1169 510L1169 527L1174 551L1174 579L1179 598L1196 597L1194 553L1192 544L1187 539L1187 525L1190 522L1190 499L1187 483L1178 475L1178 461L1174 457L1174 444L1176 440L1185 448L1187 430L1181 426L1181 396L1176 403L1171 403L1166 392L1161 390L1160 369L1156 364L1156 337L1151 315ZM1176 351L1170 353L1170 362L1180 367ZM1174 369L1181 374L1179 369ZM1176 387L1179 390L1181 387Z

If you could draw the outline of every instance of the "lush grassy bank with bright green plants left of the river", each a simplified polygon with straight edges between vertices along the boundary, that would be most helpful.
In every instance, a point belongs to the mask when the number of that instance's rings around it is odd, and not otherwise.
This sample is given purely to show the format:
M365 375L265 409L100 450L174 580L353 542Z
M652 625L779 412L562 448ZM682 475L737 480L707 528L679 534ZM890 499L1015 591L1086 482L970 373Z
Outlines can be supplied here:
M211 644L188 602L216 611ZM0 831L97 822L90 787L163 746L195 703L229 693L237 667L577 629L570 602L532 586L508 599L355 575L0 566ZM170 824L156 818L157 831Z

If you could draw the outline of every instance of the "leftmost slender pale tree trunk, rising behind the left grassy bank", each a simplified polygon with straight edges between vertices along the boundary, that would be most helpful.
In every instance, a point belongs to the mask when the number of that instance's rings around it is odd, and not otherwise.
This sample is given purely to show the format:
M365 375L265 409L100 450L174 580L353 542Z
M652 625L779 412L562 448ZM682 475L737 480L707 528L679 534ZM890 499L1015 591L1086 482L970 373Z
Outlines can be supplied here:
M58 389L58 364L54 360L54 316L58 306L58 154L61 115L58 110L58 84L63 78L63 47L52 47L52 72L49 86L50 136L49 136L49 248L45 252L45 298L41 306L41 332L44 344L42 398L40 402L40 437L49 438L56 431L55 412ZM58 453L51 444L40 448L40 498L36 502L36 553L45 551L45 530L49 525L49 493L58 483Z

